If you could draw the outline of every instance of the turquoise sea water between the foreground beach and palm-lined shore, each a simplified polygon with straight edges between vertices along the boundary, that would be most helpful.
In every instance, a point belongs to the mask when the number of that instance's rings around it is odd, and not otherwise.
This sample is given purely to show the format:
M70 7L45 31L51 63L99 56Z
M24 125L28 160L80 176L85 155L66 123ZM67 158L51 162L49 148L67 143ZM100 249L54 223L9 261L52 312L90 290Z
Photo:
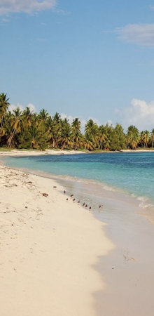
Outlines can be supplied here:
M62 178L102 183L154 204L154 152L7 157L6 164Z

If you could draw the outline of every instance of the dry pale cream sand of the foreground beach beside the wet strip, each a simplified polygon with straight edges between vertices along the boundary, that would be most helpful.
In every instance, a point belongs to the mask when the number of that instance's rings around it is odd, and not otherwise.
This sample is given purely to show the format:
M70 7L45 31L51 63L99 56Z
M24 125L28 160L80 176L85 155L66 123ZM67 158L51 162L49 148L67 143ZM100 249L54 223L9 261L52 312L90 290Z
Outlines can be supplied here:
M114 248L106 224L54 180L0 170L1 316L97 315L106 284L94 267Z

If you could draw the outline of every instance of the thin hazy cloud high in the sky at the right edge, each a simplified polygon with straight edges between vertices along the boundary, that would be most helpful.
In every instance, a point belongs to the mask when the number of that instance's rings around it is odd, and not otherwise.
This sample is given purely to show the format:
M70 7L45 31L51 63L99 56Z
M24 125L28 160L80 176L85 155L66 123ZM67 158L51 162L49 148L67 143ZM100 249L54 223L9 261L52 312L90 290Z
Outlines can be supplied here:
M130 24L118 27L119 38L141 46L154 46L154 24Z

